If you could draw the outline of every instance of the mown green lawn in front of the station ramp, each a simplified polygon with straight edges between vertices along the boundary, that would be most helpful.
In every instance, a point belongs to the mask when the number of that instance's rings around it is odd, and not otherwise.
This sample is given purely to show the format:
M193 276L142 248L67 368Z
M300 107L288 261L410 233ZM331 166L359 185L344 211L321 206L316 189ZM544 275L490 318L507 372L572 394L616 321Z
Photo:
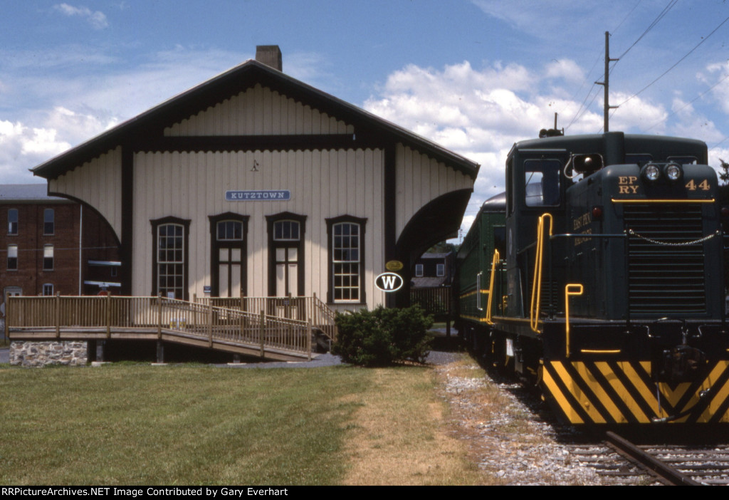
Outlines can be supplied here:
M0 483L340 484L374 373L0 365Z

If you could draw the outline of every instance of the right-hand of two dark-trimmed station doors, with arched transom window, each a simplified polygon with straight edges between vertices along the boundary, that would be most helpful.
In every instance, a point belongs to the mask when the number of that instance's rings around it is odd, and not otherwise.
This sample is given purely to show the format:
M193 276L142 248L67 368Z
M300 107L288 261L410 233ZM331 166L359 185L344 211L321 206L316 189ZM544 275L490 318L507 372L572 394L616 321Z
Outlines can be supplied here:
M267 215L268 295L304 294L304 234L306 216L281 212Z

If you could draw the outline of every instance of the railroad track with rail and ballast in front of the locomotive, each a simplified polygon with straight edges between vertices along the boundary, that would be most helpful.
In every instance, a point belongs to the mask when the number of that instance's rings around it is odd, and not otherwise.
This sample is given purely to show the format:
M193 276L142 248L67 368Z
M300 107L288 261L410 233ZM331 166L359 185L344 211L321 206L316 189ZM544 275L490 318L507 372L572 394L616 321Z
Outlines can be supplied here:
M607 432L572 454L608 484L729 485L729 445L634 445Z

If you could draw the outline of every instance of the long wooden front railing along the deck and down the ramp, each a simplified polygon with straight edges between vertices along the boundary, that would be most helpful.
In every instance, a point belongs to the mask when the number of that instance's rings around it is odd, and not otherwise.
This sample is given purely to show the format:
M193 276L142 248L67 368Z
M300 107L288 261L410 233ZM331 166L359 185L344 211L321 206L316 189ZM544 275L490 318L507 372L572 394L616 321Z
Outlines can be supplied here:
M209 302L209 301L208 301ZM163 297L7 297L6 336L23 332L61 331L157 332L159 337L180 335L214 342L260 346L308 353L311 356L311 321L283 318L241 308L223 308ZM311 315L308 316L311 318Z

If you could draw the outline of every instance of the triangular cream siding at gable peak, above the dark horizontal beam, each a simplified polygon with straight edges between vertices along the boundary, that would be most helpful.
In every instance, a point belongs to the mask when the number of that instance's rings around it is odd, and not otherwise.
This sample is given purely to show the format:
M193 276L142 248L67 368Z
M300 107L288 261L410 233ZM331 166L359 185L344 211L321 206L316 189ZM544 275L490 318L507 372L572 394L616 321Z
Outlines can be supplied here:
M165 136L354 133L354 127L260 84L165 128Z

